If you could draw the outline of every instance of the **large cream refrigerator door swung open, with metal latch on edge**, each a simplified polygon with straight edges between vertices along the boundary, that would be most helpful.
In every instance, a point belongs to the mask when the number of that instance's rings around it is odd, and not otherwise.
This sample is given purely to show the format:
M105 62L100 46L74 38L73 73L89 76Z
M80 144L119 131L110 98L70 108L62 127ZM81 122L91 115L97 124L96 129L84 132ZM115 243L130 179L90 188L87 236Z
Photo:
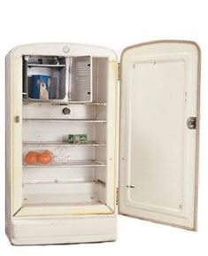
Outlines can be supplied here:
M138 44L120 74L119 213L196 230L200 50Z

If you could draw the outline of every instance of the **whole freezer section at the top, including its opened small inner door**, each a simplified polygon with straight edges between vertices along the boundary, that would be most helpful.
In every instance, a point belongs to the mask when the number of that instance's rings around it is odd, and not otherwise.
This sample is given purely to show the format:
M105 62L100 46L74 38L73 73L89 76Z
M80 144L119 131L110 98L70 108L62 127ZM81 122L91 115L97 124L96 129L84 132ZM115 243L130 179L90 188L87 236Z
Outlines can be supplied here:
M92 56L24 56L24 103L106 105L108 66Z

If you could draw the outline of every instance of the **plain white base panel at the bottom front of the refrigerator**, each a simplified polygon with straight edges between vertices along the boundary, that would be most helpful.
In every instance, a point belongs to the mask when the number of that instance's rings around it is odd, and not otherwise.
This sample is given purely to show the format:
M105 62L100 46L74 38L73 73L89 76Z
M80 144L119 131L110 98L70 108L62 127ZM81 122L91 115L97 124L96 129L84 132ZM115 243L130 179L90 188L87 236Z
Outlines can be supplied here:
M76 244L114 241L116 217L13 219L7 235L13 245Z

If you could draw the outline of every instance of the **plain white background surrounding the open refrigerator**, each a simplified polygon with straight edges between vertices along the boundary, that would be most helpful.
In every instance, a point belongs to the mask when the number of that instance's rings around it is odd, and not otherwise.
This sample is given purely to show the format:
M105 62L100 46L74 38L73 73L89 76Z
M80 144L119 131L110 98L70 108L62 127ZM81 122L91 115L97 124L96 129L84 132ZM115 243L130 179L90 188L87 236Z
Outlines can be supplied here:
M0 253L1 255L208 255L207 1L58 0L0 2ZM4 57L22 43L103 45L121 52L135 43L186 39L202 50L198 232L119 216L114 243L12 246L4 235Z

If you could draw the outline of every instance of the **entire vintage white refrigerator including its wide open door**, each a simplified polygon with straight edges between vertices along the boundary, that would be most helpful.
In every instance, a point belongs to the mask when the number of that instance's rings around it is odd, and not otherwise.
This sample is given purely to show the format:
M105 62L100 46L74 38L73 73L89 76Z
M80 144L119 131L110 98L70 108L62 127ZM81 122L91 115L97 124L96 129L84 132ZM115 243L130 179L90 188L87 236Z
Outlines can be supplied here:
M49 84L36 88L38 77ZM196 230L199 82L200 50L189 41L133 45L120 61L76 43L11 50L11 243L113 241L118 213Z

